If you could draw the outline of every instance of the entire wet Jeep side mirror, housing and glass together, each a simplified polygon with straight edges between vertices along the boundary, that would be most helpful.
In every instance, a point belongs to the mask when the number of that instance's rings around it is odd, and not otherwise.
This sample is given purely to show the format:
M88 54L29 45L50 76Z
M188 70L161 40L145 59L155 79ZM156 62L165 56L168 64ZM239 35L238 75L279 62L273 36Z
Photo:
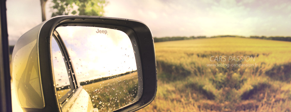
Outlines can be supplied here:
M53 17L15 44L12 80L24 111L136 111L156 95L153 37L135 20Z

